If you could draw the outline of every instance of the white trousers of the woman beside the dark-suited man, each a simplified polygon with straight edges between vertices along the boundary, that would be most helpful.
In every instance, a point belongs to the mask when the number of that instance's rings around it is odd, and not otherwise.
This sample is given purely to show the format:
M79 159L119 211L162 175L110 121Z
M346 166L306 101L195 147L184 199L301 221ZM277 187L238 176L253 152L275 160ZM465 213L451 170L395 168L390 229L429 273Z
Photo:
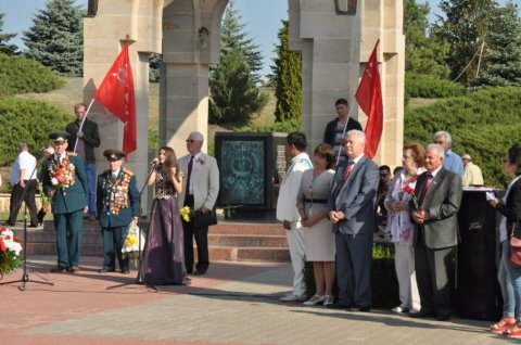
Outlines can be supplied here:
M394 243L394 268L398 278L401 307L420 310L420 294L415 272L415 248L411 245Z

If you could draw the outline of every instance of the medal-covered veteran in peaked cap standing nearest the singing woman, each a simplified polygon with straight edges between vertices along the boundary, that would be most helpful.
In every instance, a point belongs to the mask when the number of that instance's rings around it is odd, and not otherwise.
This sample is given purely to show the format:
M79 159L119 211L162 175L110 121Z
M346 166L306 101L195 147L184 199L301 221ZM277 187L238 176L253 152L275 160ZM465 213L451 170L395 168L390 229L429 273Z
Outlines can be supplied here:
M103 268L98 272L113 272L117 257L122 273L128 274L128 258L123 258L122 248L130 221L139 220L139 191L134 173L122 167L125 152L107 149L103 155L109 169L98 176L96 204L104 252Z

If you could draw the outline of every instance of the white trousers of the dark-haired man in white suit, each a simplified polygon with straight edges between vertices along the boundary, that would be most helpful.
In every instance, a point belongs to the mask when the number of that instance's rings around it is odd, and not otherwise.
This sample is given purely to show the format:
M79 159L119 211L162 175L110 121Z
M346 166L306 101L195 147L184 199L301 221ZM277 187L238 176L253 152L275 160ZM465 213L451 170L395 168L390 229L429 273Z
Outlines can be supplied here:
M300 221L292 222L291 230L285 230L288 245L290 246L291 264L293 266L293 294L295 296L306 295L304 282L304 264L306 263L306 248L304 245L304 230Z

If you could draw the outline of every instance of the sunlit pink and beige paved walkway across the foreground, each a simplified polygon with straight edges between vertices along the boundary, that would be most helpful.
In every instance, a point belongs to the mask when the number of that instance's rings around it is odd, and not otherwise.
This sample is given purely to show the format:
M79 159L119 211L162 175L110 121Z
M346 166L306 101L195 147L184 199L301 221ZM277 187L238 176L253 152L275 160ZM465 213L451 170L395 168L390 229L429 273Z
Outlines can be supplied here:
M77 274L50 273L54 257L31 256L26 291L0 285L0 344L505 344L490 322L417 320L387 310L347 312L284 304L288 264L215 263L191 286L134 284L99 274L85 257ZM22 270L2 282L21 279ZM49 281L54 285L39 284ZM128 285L117 286L120 283ZM512 341L514 342L514 341Z

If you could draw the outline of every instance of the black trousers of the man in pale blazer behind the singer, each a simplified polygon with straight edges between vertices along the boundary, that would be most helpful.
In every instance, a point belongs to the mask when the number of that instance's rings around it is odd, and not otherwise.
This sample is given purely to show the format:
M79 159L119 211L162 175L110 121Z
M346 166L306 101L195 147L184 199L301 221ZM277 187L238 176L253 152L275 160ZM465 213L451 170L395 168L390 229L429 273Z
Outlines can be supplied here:
M186 195L183 206L193 209L193 195ZM193 238L195 238L195 244L198 245L198 264L195 265L195 269L198 271L206 272L209 266L208 228L195 229L193 227L193 221L182 220L182 231L187 272L191 273L193 271Z

